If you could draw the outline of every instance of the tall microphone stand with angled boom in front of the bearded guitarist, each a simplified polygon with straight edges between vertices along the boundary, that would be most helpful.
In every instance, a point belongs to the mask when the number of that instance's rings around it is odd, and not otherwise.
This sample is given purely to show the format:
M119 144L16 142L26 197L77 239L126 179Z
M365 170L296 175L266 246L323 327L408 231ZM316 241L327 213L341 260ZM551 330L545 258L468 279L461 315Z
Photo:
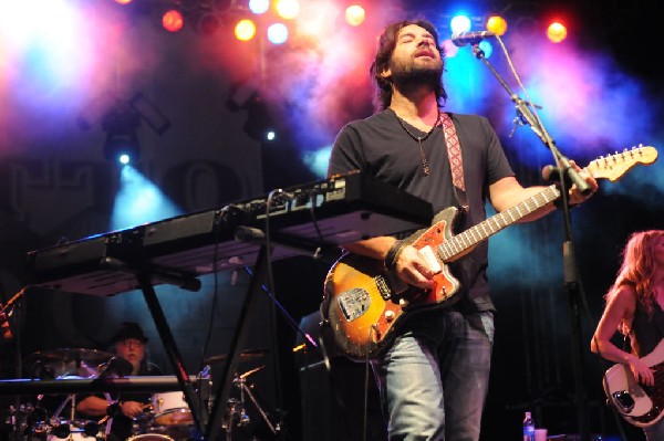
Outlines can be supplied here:
M542 122L530 111L528 103L519 98L502 80L500 74L494 69L494 66L485 57L484 51L479 48L481 38L474 39L470 44L473 45L473 54L478 60L489 67L494 76L498 80L500 85L507 91L510 99L517 107L517 114L522 124L528 124L532 132L541 139L544 146L553 155L553 161L559 174L560 181L560 193L562 200L562 214L564 220L564 242L562 245L562 259L563 259L563 272L564 272L564 286L568 291L571 309L571 330L572 330L572 368L574 376L574 401L577 406L577 421L579 428L579 435L581 441L589 440L589 428L588 428L588 398L583 388L583 353L581 349L581 314L580 314L580 295L581 284L579 282L579 272L577 266L577 259L574 253L574 245L572 242L571 234L571 221L570 221L570 204L568 189L570 183L577 185L579 191L583 195L588 195L591 191L590 186L579 172L572 167L570 160L562 155L562 153L553 143L553 139L549 136Z

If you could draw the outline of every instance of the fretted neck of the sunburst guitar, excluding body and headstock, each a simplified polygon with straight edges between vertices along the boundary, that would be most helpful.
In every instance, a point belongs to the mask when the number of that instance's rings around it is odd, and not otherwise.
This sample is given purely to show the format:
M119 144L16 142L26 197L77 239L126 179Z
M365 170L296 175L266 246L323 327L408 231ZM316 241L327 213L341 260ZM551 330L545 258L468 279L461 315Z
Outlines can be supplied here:
M471 227L463 233L459 233L443 242L438 246L440 259L446 262L452 258L464 253L465 251L477 245L479 242L488 239L490 235L523 219L528 214L537 211L547 203L554 201L559 197L560 191L558 190L557 186L551 185L544 190L531 196L516 206L494 214L477 225Z

